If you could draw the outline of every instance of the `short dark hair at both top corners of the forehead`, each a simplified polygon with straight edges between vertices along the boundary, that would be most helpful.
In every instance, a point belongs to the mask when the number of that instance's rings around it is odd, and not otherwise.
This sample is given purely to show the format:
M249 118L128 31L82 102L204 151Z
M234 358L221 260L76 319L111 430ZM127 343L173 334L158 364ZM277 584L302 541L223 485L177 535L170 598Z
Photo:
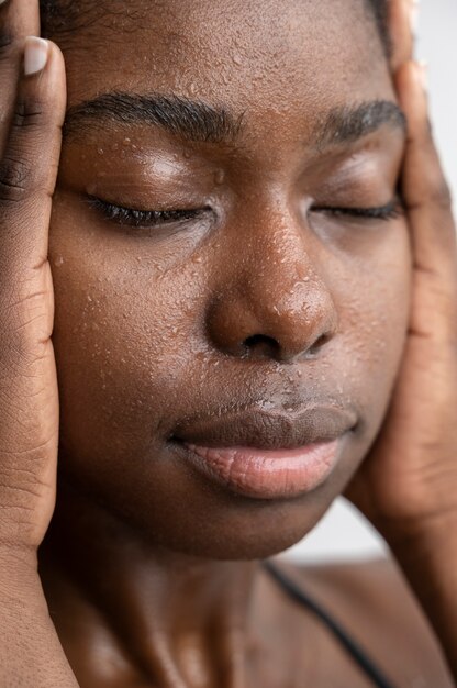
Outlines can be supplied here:
M378 25L382 45L387 55L390 54L388 27L389 0L364 0ZM98 4L98 3L97 3ZM96 4L96 8L97 8ZM94 12L87 2L80 0L40 0L42 34L52 36L71 32L78 26L91 23Z

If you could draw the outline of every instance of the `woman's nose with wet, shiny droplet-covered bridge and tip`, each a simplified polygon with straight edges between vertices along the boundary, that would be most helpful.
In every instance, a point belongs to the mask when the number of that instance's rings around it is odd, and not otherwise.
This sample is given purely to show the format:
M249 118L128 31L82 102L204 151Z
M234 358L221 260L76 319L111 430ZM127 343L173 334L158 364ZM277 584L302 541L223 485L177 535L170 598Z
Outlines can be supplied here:
M281 222L278 230L271 217L268 223L252 241L239 242L238 233L225 253L208 331L231 356L310 358L337 329L335 303L319 270L322 245L303 228Z

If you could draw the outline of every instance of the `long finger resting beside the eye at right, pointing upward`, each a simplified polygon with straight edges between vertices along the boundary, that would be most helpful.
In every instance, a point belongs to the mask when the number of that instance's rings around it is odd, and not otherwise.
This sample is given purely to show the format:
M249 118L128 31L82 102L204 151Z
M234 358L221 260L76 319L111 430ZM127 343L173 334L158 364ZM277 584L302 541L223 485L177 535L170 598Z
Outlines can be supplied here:
M424 68L414 62L397 76L408 119L402 193L411 225L416 300L412 332L441 341L457 337L457 249L452 198L427 114ZM450 337L450 339L449 339Z

